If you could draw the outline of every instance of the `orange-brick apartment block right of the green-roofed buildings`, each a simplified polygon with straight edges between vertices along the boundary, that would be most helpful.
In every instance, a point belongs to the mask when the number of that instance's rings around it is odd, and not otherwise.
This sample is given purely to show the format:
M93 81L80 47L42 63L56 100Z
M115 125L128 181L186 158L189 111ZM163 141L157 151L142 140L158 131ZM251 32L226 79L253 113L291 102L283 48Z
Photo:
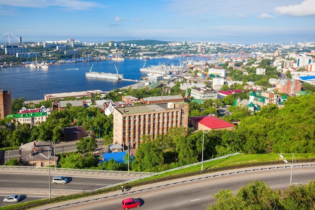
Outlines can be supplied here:
M295 96L302 89L302 84L298 80L277 80L275 90L285 93L288 96Z

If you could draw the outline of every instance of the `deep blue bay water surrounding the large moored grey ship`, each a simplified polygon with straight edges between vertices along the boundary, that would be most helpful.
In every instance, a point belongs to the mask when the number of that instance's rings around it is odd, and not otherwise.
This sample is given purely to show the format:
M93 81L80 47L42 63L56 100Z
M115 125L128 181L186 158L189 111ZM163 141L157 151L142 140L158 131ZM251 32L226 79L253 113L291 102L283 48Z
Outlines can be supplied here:
M146 66L158 65L163 62L167 65L180 65L180 59L185 62L187 58L149 59L146 61ZM196 57L193 59L198 60ZM12 98L24 98L25 101L44 99L44 94L51 93L110 91L135 84L135 82L86 78L85 73L90 70L92 63L94 63L93 71L95 72L116 73L115 64L119 74L123 74L125 79L140 80L141 76L146 76L146 73L139 71L144 62L145 60L141 59L125 59L124 61L64 63L51 65L48 69L25 66L0 68L0 89L11 91Z

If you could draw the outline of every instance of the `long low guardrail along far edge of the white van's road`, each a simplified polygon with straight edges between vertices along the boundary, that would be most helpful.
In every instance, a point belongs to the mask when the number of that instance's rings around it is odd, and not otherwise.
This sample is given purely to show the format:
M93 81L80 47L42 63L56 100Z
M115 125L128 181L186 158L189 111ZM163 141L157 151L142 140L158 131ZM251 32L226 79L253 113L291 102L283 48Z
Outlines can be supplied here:
M41 170L48 171L48 167L35 167L35 166L0 166L1 169L11 169L11 170ZM136 171L110 171L110 170L92 170L92 169L72 169L72 168L54 168L50 167L50 170L58 172L80 172L80 173L98 173L98 174L126 174L126 175L154 175L153 172L136 172Z

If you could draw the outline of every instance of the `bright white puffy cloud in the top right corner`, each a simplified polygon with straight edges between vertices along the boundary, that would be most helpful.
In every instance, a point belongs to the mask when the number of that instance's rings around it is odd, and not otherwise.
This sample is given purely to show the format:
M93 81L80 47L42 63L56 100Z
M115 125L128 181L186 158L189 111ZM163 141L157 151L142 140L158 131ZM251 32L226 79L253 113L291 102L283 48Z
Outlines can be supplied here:
M315 16L315 0L304 0L299 5L277 7L275 12L287 16Z

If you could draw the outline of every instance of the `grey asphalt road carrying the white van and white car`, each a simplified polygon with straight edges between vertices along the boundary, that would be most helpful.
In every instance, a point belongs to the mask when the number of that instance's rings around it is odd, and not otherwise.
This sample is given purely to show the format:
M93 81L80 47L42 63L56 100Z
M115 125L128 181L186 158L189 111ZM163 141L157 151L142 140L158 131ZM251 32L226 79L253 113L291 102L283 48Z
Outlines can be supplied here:
M69 173L55 173L51 170L50 180L54 175L62 175L68 179L66 184L50 184L51 197L75 194L84 191L91 191L109 185L125 182L137 177L123 177L118 175L89 175L89 174L76 174ZM49 197L49 175L39 171L0 171L0 201L5 196L10 194L19 194L22 197L21 202L42 199ZM4 205L10 205L12 203L0 202L0 207Z

